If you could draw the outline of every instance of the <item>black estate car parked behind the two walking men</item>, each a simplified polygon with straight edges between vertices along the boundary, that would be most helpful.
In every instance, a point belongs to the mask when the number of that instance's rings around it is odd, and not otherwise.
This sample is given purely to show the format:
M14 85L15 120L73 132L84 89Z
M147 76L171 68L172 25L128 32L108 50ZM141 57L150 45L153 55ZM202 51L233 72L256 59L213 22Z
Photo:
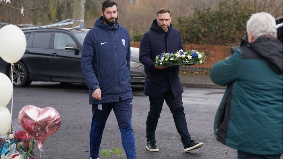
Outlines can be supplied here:
M23 30L26 52L13 66L14 86L24 87L32 81L85 83L80 58L84 38L90 29ZM0 58L0 72L10 77L10 64ZM131 47L131 81L144 83L144 66L139 62L139 48Z

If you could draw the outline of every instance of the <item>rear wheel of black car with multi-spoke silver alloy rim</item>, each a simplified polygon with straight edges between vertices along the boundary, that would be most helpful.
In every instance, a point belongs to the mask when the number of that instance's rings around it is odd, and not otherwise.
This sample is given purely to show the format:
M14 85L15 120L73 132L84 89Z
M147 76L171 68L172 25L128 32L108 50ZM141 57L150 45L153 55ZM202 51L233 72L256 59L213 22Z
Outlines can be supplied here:
M11 67L8 72L9 78L11 78ZM28 79L26 66L21 62L17 62L13 66L13 82L15 87L27 87L32 82Z

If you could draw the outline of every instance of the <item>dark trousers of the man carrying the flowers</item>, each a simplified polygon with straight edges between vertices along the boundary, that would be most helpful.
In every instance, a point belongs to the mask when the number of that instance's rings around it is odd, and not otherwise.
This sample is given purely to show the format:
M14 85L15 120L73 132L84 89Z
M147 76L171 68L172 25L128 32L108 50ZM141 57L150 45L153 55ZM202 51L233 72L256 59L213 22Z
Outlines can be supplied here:
M188 132L188 126L185 118L182 94L175 97L171 89L156 98L149 97L150 110L146 119L147 142L155 140L155 130L164 100L173 114L175 126L181 136L182 143L183 145L186 145L191 140L191 137Z

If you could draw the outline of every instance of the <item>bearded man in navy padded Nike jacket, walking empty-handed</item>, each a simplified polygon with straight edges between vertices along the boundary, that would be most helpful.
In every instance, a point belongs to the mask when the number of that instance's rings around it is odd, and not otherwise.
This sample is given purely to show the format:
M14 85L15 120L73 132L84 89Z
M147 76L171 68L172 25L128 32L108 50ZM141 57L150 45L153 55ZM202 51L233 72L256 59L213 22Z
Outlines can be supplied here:
M126 156L135 159L135 138L131 126L130 37L127 29L117 22L115 1L104 1L101 15L87 33L81 54L81 69L89 88L89 104L92 105L90 158L99 157L102 133L113 109Z

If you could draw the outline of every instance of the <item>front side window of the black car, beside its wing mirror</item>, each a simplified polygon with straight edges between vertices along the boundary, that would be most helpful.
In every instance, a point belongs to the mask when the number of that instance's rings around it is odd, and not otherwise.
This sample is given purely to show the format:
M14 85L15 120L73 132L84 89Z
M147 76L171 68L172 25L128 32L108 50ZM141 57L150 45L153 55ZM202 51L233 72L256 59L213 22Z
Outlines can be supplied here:
M75 41L67 34L55 33L54 49L65 49L68 44L76 44Z

